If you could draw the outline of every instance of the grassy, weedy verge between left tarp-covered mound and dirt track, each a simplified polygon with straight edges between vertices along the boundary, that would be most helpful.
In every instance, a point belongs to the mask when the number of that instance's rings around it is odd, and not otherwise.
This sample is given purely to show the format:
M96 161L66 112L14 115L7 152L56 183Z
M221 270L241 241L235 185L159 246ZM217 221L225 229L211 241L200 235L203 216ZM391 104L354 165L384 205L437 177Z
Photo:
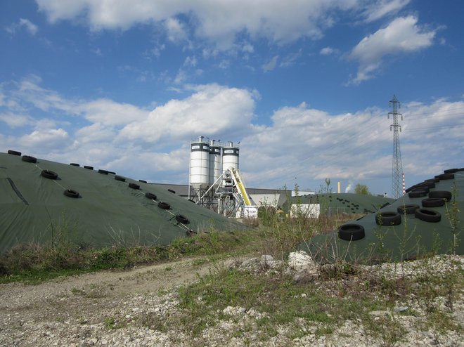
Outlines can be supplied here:
M80 249L63 242L54 247L21 244L0 256L0 283L38 284L63 275L97 270L128 269L182 256L227 254L250 251L257 234L236 232L201 233L174 240L169 247L103 247Z

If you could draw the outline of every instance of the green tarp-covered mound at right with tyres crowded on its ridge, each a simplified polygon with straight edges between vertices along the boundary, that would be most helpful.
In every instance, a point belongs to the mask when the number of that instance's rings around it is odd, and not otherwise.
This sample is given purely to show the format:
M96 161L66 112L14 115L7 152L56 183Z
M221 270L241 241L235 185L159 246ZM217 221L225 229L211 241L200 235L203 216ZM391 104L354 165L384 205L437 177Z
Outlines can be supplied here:
M320 262L395 261L425 254L464 254L464 168L445 170L406 195L298 246Z

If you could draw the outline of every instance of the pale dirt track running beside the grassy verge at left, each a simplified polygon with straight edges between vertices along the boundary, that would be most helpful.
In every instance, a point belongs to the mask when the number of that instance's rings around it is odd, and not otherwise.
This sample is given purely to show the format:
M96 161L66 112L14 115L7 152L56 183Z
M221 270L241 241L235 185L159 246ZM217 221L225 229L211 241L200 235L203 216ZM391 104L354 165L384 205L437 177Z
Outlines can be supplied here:
M206 258L185 258L132 270L63 277L38 285L0 284L0 334L25 322L101 322L103 312L124 298L194 282L211 266Z

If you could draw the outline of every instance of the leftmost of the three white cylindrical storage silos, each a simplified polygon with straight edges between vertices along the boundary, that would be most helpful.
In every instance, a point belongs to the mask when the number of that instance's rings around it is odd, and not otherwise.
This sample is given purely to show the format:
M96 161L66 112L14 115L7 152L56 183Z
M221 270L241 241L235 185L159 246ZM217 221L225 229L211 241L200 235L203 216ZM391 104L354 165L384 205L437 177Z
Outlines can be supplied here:
M195 190L204 189L210 183L210 145L200 136L190 151L190 184Z

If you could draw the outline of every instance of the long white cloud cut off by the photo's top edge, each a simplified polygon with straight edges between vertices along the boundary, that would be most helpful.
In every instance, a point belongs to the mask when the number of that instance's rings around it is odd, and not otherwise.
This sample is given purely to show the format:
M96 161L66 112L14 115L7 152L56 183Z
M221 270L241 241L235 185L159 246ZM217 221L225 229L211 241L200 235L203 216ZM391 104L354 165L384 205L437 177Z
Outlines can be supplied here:
M334 24L330 13L360 10L362 5L356 0L37 0L37 4L52 23L84 18L92 30L127 30L138 23L165 22L172 41L192 35L214 43L220 51L233 48L237 34L243 32L251 39L278 44L302 37L320 39Z

